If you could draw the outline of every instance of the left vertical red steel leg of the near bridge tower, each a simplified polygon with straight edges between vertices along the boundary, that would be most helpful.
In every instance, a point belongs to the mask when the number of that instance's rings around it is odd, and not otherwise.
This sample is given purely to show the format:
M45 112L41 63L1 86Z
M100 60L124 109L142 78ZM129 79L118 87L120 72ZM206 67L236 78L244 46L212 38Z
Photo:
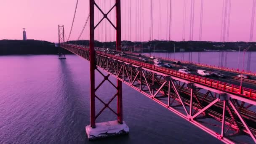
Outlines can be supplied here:
M95 52L94 52L94 0L90 0L90 98L91 127L95 128Z

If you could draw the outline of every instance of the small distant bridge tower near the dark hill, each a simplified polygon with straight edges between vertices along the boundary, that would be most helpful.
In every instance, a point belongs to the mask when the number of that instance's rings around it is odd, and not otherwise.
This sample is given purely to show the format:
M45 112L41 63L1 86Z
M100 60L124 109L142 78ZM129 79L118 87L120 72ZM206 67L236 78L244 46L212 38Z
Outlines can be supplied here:
M64 37L64 25L59 25L58 28L59 28L59 43L58 43L58 55L59 55L59 59L66 59L65 50L60 47L60 44L65 42L65 37Z

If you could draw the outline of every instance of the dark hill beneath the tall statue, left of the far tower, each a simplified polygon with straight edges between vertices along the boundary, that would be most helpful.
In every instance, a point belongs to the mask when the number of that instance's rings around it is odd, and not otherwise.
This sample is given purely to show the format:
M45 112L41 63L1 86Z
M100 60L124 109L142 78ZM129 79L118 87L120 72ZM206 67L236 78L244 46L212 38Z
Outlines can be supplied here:
M0 55L57 54L54 43L41 40L0 40Z

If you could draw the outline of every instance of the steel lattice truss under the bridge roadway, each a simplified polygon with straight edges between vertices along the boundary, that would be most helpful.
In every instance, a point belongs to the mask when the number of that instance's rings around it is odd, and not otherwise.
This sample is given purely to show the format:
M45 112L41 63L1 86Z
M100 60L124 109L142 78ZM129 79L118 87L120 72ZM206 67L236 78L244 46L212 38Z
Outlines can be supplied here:
M88 48L66 44L61 47L90 60ZM107 72L104 77L116 77L224 143L244 142L248 140L241 138L244 135L256 143L256 113L250 109L255 107L255 99L186 80L180 74L168 75L149 69L139 61L136 64L134 60L128 62L126 58L99 51L96 51L95 60L97 71ZM210 120L211 123L208 122L210 118L214 120Z

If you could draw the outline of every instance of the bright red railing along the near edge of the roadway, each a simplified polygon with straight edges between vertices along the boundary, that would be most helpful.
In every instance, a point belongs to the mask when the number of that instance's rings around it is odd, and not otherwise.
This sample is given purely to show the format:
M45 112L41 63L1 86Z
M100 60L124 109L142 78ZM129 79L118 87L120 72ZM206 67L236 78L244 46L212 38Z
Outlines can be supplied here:
M74 47L74 48L82 49L84 51L89 50L88 48L80 48L79 46L73 46L73 45L71 45L71 46ZM256 99L256 90L253 90L253 89L250 89L250 88L240 88L240 86L238 86L238 85L224 83L224 82L221 82L221 81L218 81L218 80L213 80L213 79L206 78L206 77L200 77L200 76L197 76L197 75L185 74L185 73L173 70L173 69L169 69L169 68L165 68L165 67L158 67L158 66L155 66L153 64L148 64L148 63L145 63L145 62L142 62L142 61L137 61L137 60L133 60L133 59L124 58L122 56L115 56L115 55L104 53L104 52L101 52L101 51L96 51L96 53L101 54L103 56L108 56L112 59L117 59L117 60L120 60L120 61L124 61L124 62L127 62L129 64L134 64L134 65L137 65L139 67L144 67L144 68L147 68L147 69L155 70L157 72L165 73L167 75L176 76L176 77L179 77L179 78L182 78L184 80L188 80L188 81L191 81L191 82L194 82L194 83L200 83L200 84L206 85L208 87L219 89L220 91L225 91L225 92L228 92L228 93L234 93L236 95L245 96L245 97L250 98L250 99Z

